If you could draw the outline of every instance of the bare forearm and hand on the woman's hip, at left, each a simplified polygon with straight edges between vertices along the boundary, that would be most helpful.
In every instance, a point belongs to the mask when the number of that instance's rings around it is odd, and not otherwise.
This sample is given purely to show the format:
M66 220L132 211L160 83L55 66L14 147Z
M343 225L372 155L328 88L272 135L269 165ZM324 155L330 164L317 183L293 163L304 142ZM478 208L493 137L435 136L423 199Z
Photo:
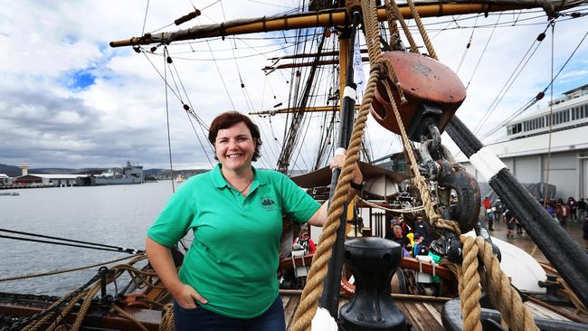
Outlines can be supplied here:
M172 250L169 247L159 244L148 236L145 247L149 263L151 263L159 279L161 279L181 307L196 307L194 300L202 304L208 302L194 288L182 283L177 277L174 259L172 258Z

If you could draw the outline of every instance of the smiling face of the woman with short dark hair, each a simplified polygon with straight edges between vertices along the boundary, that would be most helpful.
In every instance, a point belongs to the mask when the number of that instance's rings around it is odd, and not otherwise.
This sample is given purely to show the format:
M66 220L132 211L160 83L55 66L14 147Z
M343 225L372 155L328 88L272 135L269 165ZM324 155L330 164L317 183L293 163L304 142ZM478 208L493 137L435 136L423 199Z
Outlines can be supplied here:
M214 149L224 170L241 172L251 168L255 141L245 123L239 122L230 128L218 130Z

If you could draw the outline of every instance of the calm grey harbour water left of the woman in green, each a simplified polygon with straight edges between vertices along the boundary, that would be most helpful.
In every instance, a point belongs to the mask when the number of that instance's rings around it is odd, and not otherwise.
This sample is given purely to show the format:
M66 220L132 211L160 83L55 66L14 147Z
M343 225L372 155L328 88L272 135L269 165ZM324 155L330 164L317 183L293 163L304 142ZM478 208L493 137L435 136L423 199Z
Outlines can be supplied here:
M20 190L19 193L19 196L0 197L0 228L144 250L147 227L171 196L172 185L166 181L39 188ZM126 256L128 254L121 252L0 238L0 279L83 267ZM1 282L0 292L58 296L78 288L97 271L98 267Z

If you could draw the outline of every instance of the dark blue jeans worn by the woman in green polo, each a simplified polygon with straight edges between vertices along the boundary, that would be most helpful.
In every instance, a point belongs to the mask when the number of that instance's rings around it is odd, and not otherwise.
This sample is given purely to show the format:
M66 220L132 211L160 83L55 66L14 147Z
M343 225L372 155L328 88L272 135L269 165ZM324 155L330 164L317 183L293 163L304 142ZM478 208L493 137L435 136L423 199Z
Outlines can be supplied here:
M281 297L259 317L249 319L224 317L198 306L194 309L180 307L174 300L175 331L284 331L284 307Z

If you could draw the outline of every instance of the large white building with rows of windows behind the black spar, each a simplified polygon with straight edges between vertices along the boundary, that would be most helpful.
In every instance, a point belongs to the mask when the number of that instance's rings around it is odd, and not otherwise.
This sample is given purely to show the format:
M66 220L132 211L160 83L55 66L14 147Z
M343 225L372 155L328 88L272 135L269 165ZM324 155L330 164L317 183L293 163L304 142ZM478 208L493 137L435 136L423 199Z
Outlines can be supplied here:
M556 197L588 197L588 84L550 107L507 124L507 136L487 145L521 183L555 184ZM549 125L551 122L551 147ZM469 162L462 162L486 181Z

